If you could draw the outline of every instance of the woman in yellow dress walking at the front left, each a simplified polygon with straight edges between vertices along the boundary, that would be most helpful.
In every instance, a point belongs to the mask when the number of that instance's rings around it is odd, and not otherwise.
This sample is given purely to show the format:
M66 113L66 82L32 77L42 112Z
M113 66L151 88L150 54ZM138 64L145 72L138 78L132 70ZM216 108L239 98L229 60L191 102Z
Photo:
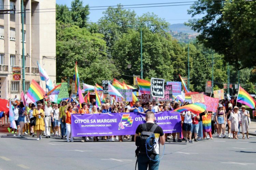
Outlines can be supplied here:
M44 112L43 109L41 109L42 104L41 102L37 103L37 108L33 110L33 116L36 117L36 125L35 125L35 131L37 134L37 139L36 140L41 140L42 139L42 131L45 130L44 128ZM40 134L40 135L39 135Z

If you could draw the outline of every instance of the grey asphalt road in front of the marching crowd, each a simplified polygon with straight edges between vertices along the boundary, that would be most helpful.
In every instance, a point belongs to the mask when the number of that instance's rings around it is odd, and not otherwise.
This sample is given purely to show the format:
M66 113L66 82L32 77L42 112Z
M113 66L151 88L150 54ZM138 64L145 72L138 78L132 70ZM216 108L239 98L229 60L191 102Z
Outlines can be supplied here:
M0 134L0 169L135 169L135 143L66 142L51 137L36 141ZM256 137L166 142L160 169L255 169ZM160 147L161 154L163 146Z

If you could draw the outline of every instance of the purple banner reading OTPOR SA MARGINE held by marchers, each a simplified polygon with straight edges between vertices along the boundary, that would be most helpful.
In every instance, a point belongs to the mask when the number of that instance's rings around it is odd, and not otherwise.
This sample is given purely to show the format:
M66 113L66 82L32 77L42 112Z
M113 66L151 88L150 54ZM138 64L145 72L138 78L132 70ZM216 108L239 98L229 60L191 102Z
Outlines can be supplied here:
M179 112L159 112L155 114L155 119L164 133L181 132ZM133 135L141 123L146 123L143 113L71 115L72 135L77 137Z

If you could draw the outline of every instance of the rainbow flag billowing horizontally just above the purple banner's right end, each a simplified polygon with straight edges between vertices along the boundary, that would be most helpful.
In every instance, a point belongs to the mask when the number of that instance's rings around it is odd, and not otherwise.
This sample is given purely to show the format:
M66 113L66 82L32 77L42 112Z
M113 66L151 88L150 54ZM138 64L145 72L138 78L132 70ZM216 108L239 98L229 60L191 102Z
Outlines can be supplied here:
M174 112L182 113L182 112L185 112L185 111L190 111L194 114L197 114L197 113L204 112L205 109L206 109L205 104L203 104L203 103L194 103L194 104L188 104L188 105L179 107L179 108L175 109Z

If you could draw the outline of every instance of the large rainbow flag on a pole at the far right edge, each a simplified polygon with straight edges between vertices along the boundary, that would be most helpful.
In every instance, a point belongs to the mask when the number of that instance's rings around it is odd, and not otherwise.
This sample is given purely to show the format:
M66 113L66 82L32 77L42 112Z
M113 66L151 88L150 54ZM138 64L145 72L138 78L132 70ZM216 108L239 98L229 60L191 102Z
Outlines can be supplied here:
M255 108L255 100L252 96L247 93L243 88L239 86L238 95L237 95L237 102L243 103L248 107L254 109Z

